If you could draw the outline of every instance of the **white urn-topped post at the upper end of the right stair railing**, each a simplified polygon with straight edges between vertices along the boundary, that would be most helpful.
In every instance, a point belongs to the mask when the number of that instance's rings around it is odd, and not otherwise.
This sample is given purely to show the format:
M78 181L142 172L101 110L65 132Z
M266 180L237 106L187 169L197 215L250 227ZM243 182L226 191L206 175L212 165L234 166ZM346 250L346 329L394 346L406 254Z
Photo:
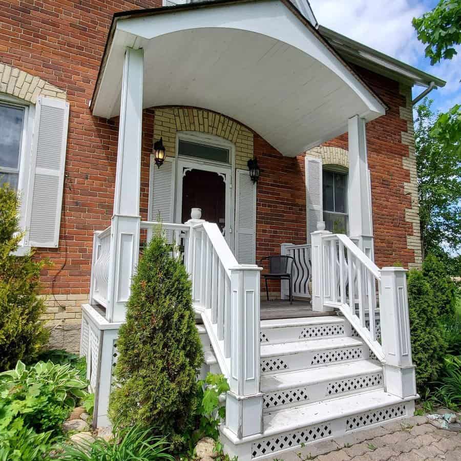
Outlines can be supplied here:
M325 222L317 224L317 231L310 234L311 238L311 261L312 261L312 310L316 312L330 312L331 307L326 307L323 303L325 288L329 287L328 260L325 261L325 248L322 237L331 234L325 231ZM325 262L327 264L325 264Z

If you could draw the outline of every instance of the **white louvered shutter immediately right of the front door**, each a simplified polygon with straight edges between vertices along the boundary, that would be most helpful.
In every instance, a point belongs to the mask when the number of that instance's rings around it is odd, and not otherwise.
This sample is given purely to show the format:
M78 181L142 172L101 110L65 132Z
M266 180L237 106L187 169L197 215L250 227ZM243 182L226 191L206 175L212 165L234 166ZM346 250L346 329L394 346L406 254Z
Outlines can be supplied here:
M235 249L239 264L256 262L256 183L248 170L237 170Z

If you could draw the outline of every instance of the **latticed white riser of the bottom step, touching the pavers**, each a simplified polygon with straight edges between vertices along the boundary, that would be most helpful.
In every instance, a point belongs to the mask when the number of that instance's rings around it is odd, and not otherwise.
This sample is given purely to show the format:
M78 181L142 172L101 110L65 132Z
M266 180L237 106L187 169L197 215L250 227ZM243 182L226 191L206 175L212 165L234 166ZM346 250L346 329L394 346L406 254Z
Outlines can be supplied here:
M277 457L280 453L315 442L341 437L364 428L412 416L414 402L379 407L371 411L344 416L315 426L303 427L260 439L252 443L252 459Z

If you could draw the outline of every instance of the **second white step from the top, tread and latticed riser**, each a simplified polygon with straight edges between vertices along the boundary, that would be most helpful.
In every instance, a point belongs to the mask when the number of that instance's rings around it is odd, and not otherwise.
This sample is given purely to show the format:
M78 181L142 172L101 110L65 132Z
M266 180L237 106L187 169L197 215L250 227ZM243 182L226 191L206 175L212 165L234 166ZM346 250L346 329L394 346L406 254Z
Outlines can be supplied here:
M369 349L359 338L338 337L261 345L261 373L275 374L366 360Z

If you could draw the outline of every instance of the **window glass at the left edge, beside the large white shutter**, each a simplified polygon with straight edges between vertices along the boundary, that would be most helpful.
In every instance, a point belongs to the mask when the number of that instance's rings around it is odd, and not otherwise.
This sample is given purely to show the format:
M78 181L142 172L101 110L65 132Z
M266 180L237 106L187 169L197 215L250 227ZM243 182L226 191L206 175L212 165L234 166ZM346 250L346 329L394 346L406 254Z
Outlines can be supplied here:
M0 186L17 189L24 119L23 107L0 103Z

